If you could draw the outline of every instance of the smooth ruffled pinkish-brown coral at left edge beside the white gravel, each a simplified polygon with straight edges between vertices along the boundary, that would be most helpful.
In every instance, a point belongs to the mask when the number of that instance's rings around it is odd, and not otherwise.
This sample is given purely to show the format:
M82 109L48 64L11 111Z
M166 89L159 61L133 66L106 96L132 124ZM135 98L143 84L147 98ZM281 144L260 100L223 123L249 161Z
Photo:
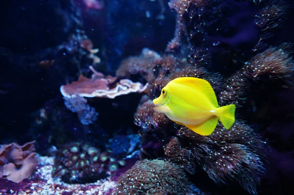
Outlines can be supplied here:
M28 178L38 165L35 141L23 146L17 143L0 146L0 177L19 183Z

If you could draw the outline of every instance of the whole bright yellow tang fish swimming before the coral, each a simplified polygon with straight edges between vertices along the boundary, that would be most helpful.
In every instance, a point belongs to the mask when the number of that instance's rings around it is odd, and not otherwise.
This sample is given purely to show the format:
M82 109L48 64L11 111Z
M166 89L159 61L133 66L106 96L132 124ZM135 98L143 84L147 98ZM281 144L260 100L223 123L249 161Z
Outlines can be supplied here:
M154 111L165 113L173 122L200 135L210 135L219 119L227 130L235 122L236 105L219 107L211 85L194 77L179 77L170 81L153 104L157 106Z

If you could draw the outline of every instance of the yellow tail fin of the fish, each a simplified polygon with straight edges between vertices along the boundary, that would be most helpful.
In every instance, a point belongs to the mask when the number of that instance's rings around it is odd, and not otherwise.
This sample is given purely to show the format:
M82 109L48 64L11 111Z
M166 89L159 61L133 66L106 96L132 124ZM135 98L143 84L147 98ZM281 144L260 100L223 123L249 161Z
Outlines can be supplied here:
M217 108L217 115L225 129L230 129L235 122L236 105L231 104Z

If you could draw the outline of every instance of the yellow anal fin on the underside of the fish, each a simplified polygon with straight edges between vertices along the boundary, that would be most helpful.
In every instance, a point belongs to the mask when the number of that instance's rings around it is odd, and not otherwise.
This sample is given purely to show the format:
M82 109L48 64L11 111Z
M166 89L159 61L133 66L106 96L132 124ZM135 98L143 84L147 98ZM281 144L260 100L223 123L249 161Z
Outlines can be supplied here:
M211 116L206 122L200 125L185 125L190 130L200 135L210 135L217 127L219 118L217 116Z

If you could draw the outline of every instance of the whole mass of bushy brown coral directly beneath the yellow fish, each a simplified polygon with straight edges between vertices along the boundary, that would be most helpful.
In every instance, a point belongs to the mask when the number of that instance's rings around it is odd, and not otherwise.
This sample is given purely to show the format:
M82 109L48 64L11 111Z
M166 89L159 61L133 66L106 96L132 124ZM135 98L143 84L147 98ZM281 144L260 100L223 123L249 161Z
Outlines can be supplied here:
M236 121L230 130L219 124L209 136L182 127L178 136L165 146L167 160L192 174L200 165L216 183L236 181L256 194L263 172L263 155L258 151L264 142L243 121Z

